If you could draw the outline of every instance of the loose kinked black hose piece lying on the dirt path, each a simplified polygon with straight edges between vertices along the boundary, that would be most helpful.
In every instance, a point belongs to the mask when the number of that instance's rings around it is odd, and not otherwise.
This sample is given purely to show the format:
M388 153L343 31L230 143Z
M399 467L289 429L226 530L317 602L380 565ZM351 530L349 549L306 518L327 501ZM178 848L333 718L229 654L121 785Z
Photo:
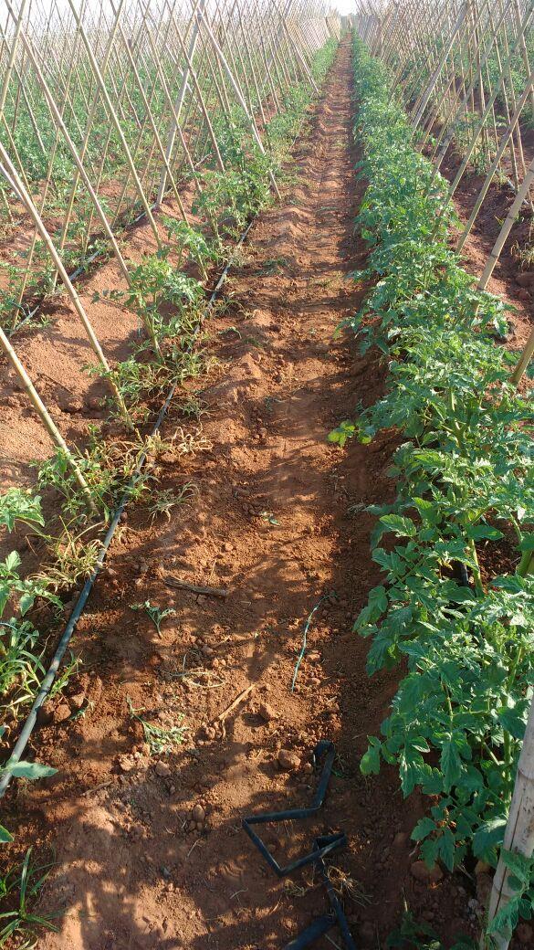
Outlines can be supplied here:
M280 866L277 859L273 857L269 848L264 845L252 827L253 825L270 825L283 821L303 820L315 815L324 803L334 766L335 747L330 739L321 739L315 746L313 755L314 764L318 765L323 757L324 763L319 784L310 806L307 808L287 808L284 811L265 811L259 815L250 815L248 818L243 818L242 820L244 830L254 845L256 845L259 853L265 858L267 864L275 871L278 878L293 874L294 871L300 870L301 867L306 867L307 864L315 864L326 889L327 897L330 902L330 913L323 914L321 917L316 918L315 921L310 923L309 926L298 934L295 940L291 940L287 943L284 950L304 950L305 947L311 946L312 943L315 943L315 940L318 940L319 937L322 937L334 926L339 928L346 950L356 950L345 912L335 893L334 885L328 876L327 867L324 863L324 859L329 854L347 845L347 835L345 832L337 831L335 834L319 835L315 838L314 845L309 854L305 854L301 858L296 858L296 860L290 862L290 864Z

